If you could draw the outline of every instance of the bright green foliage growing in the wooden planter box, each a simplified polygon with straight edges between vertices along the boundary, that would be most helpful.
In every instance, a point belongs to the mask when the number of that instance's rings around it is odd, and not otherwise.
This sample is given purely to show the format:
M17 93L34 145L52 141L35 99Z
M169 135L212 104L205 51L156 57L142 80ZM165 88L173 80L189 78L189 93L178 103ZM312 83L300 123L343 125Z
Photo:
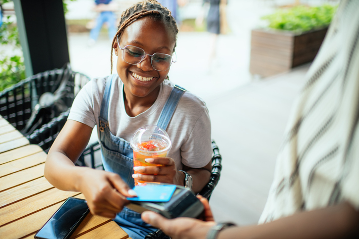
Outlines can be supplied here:
M321 6L298 5L287 9L278 9L275 13L263 16L269 28L287 31L309 31L330 24L337 5Z

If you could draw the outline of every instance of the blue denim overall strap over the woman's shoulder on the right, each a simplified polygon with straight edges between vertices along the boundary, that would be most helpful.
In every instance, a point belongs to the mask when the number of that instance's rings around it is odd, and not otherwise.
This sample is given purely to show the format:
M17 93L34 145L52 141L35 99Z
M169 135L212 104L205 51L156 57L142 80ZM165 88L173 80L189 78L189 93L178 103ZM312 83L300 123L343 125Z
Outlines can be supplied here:
M172 89L170 96L168 97L165 106L162 109L161 115L157 121L157 126L161 127L162 129L166 130L170 120L172 118L175 109L180 102L180 98L186 89L175 85Z

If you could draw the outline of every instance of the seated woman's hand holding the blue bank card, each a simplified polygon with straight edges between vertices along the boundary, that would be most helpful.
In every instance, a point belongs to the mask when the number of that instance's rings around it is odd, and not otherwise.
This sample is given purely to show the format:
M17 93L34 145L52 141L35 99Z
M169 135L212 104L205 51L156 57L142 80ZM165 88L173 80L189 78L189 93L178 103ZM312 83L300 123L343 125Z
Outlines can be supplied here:
M115 218L136 193L115 173L89 169L79 184L93 215Z

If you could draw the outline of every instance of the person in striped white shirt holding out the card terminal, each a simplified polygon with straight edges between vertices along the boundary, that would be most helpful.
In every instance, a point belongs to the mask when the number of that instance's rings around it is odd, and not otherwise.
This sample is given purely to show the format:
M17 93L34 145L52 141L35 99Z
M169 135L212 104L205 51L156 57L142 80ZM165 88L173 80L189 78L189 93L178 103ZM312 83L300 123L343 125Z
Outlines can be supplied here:
M307 72L259 225L216 224L201 197L204 221L149 211L142 219L172 239L359 238L358 11L358 0L340 2Z

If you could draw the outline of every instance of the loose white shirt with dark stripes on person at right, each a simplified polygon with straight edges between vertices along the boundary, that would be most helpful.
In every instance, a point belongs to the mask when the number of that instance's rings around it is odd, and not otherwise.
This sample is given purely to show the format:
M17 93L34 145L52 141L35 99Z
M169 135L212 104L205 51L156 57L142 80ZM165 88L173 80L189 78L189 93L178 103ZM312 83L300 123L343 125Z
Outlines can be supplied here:
M295 101L259 223L359 209L359 0L342 0Z

